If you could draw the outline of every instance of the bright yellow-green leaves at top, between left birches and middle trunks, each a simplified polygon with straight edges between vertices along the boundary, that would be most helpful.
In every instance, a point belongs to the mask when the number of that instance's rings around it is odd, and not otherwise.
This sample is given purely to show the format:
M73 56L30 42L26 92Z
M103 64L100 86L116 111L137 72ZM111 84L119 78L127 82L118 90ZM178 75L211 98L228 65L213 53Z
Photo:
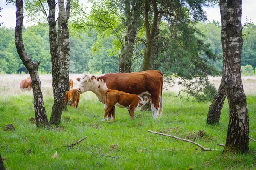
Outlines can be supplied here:
M76 16L76 19L71 20L71 28L78 32L87 29L96 32L97 39L93 45L94 52L98 52L98 49L101 48L102 40L111 37L114 45L111 51L114 49L113 53L116 54L116 51L122 48L123 34L125 34L125 26L122 25L121 18L119 17L122 14L118 8L113 8L113 6L116 6L114 1L93 0L91 3L93 3L93 6L90 14L85 12L86 8L83 4L74 3L74 13L76 13L74 16ZM77 16L78 12L79 16Z

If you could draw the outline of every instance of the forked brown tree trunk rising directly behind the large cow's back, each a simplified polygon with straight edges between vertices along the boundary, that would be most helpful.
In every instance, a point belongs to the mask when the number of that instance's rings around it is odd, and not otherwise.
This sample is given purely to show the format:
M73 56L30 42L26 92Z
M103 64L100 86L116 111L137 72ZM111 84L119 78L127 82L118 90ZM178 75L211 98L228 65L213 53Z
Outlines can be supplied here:
M142 71L150 69L151 48L154 42L155 35L157 33L157 23L158 23L158 15L159 15L156 0L152 0L152 8L153 8L154 14L153 14L153 23L150 29L150 24L149 24L150 4L148 0L144 0L144 6L145 6L144 19L145 19L145 31L146 31L147 42L146 42L145 55L143 59Z

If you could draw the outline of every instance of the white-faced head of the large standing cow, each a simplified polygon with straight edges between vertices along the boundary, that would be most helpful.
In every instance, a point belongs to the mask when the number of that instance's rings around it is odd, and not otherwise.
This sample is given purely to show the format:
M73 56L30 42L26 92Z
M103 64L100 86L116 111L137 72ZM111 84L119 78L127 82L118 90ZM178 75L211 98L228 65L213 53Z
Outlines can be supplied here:
M84 74L82 78L76 78L80 82L76 91L80 94L91 91L93 88L93 79L95 79L95 76L90 76L89 74Z

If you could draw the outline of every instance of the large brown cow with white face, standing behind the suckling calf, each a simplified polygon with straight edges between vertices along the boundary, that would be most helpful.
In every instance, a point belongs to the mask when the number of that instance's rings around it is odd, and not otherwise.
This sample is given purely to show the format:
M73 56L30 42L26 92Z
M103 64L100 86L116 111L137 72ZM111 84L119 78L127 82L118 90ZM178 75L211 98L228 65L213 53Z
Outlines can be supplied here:
M92 91L102 103L105 102L105 92L108 89L124 91L138 96L148 94L151 96L150 103L153 110L153 118L160 117L162 114L163 74L161 71L147 70L134 73L109 73L102 76L84 74L82 78L77 78L77 80L80 82L77 92L82 94L86 91ZM114 112L111 114L114 118Z

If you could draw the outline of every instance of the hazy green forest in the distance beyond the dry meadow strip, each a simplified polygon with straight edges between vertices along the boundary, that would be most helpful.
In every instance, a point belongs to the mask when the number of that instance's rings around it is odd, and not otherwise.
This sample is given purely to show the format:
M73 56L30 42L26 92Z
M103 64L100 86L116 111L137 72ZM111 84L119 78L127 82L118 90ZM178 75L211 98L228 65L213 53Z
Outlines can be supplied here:
M217 56L216 59L205 58L221 73L221 25L213 21L212 23L199 22L195 26L199 33L195 33L196 36L202 40L204 44L209 44L209 49ZM253 75L255 74L256 68L256 26L253 23L244 25L243 40L244 44L241 59L242 74ZM85 73L90 71L90 73L93 74L106 74L118 72L119 54L113 45L115 43L113 41L114 36L101 37L94 29L79 33L79 36L73 34L73 36L70 37L70 73ZM34 61L41 62L39 71L41 73L51 73L52 66L48 26L38 24L37 26L24 28L23 42L29 56ZM132 71L141 71L143 62L142 54L144 51L145 45L142 42L137 42L134 48ZM161 66L156 69L161 70ZM1 27L0 73L15 74L21 72L26 72L26 68L20 60L15 47L15 29Z

